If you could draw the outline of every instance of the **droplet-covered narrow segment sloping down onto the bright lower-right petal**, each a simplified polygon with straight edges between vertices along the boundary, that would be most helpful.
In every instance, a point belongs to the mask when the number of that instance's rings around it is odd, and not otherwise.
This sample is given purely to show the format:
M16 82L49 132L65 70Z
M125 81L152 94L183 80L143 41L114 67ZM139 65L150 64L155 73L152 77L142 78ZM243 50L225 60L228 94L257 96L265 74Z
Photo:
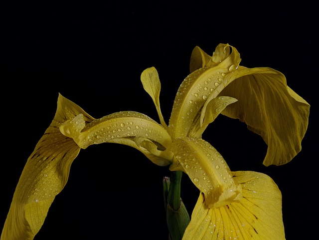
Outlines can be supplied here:
M209 208L224 206L241 199L241 187L233 179L223 157L203 139L178 138L172 145L178 163L171 171L184 171L204 193Z

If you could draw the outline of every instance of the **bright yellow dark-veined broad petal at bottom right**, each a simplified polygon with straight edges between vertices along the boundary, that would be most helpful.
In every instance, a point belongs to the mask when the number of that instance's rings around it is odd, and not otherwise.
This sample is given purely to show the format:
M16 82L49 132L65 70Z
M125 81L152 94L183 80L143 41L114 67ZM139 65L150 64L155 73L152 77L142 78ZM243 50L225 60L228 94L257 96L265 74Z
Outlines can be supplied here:
M232 172L243 198L219 208L207 207L200 193L182 240L285 240L281 193L257 172Z

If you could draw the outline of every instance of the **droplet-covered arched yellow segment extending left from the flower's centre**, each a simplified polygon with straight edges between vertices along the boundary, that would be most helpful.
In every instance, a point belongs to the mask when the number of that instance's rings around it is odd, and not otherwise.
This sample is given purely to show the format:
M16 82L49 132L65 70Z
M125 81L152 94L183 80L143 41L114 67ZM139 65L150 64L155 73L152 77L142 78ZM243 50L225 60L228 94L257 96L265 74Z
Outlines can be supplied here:
M80 114L60 126L61 132L73 138L80 148L114 142L116 139L133 141L135 137L148 138L165 149L170 148L171 138L167 131L145 114L134 111L116 112L95 119L85 126L82 117Z

